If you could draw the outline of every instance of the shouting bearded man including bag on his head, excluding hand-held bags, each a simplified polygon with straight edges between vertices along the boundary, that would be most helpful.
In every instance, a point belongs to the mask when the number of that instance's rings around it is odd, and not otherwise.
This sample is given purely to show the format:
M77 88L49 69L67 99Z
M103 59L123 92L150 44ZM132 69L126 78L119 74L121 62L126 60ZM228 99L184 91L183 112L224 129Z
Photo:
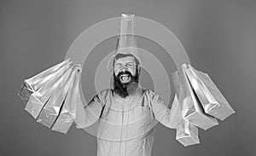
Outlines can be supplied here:
M133 14L122 14L120 36L113 58L113 89L102 90L83 107L78 103L77 128L96 121L97 156L150 156L154 126L174 128L177 98L168 108L159 95L139 86L141 61L133 35Z

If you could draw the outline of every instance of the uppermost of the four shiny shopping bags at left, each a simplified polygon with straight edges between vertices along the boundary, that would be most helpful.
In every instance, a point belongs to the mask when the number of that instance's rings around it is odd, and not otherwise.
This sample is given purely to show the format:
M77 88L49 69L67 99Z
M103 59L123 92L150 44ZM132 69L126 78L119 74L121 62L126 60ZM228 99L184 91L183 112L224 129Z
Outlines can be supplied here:
M50 78L55 76L55 73L61 69L63 66L68 66L72 63L70 59L61 61L61 63L56 64L55 66L49 67L43 72L38 73L32 78L27 78L24 80L23 84L20 87L18 95L20 95L21 100L26 104L29 96L40 89Z

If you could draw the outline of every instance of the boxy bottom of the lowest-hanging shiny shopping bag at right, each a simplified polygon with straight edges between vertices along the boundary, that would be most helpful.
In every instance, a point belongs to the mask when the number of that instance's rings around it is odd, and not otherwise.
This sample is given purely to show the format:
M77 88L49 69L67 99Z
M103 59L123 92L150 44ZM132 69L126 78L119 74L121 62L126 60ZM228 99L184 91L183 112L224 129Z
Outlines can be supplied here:
M198 128L189 123L188 120L183 119L177 125L176 140L183 144L184 147L200 143L198 137Z

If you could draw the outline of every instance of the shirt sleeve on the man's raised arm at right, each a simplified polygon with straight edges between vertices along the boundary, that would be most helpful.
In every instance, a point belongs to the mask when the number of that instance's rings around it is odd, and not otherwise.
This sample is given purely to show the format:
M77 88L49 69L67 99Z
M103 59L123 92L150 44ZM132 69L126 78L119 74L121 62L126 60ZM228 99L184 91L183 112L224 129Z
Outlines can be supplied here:
M157 95L152 90L148 91L148 97L151 101L150 103L154 118L157 119L160 124L174 129L182 120L181 108L178 105L177 95L175 95L174 101L172 101L171 108L169 108L165 101L160 98L160 95Z

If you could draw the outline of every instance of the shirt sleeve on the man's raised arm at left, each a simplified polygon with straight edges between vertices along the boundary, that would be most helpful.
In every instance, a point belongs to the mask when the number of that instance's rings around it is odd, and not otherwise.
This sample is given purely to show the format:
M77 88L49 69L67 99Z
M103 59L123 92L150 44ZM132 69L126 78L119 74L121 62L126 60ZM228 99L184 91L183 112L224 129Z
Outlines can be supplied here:
M78 129L88 127L100 118L102 108L105 105L107 92L107 90L103 90L96 94L85 106L83 101L78 102L76 118L74 120Z

